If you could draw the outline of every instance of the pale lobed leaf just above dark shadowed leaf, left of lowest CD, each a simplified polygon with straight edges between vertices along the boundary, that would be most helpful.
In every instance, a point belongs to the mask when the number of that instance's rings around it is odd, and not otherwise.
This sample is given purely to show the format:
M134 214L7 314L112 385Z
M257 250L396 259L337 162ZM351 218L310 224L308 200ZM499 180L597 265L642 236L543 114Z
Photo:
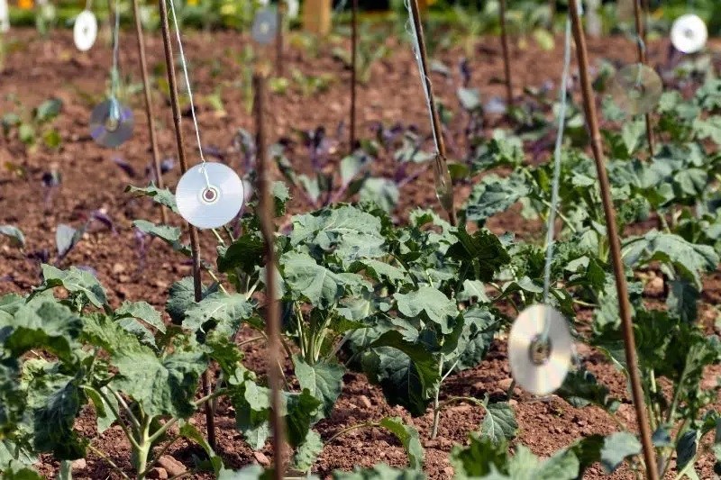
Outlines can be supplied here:
M409 294L393 294L398 312L415 319L421 313L441 327L443 334L451 333L458 307L443 292L432 286L421 286Z

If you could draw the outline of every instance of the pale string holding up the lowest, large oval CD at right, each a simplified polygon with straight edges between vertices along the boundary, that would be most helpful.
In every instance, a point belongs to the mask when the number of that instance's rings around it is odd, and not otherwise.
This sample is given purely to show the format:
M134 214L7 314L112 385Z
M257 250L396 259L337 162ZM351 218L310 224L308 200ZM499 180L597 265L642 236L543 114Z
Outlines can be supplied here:
M551 289L551 264L553 259L553 243L555 241L556 213L558 211L558 190L561 183L561 146L563 143L563 131L566 125L566 106L568 96L568 79L570 68L570 18L566 19L566 39L563 50L563 74L561 77L561 107L558 113L558 132L556 144L553 150L553 179L551 187L551 211L548 214L546 225L546 261L543 268L543 303L548 303L548 294ZM548 311L547 311L548 312ZM551 322L546 317L543 325L542 339L548 340Z

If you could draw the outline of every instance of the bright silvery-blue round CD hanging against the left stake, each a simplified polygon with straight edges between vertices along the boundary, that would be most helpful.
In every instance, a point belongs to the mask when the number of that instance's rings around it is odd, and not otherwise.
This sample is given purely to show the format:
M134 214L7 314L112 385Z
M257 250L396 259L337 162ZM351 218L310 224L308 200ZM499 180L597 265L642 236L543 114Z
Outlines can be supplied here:
M222 163L205 163L187 170L178 181L178 211L199 229L222 227L241 211L242 180Z

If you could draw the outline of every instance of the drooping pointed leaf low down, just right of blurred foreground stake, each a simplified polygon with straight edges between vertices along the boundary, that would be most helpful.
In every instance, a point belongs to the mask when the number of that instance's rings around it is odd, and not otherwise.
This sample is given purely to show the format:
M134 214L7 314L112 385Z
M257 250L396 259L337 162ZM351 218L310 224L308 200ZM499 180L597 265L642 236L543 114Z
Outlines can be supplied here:
M341 364L322 360L308 365L303 358L293 356L300 388L323 402L322 417L330 416L333 405L341 394L345 368Z

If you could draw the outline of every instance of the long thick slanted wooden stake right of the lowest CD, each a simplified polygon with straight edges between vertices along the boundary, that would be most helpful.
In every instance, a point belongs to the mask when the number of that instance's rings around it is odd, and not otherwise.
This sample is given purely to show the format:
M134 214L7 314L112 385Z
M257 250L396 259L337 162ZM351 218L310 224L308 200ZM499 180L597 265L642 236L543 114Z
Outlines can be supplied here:
M580 85L583 94L583 108L586 113L586 122L589 125L591 136L591 150L596 162L598 172L598 184L601 190L601 201L606 216L606 229L610 247L611 264L616 276L616 293L618 294L618 310L621 316L621 328L625 343L625 360L628 366L628 376L631 382L631 394L634 398L634 408L638 430L641 433L643 445L643 460L646 464L646 475L650 480L658 480L659 475L656 467L653 442L651 440L651 429L649 428L648 416L646 414L643 396L643 387L638 371L638 359L636 358L636 346L634 340L634 325L631 321L631 304L628 300L628 286L625 281L624 261L621 258L621 242L618 239L616 228L616 212L611 200L611 188L608 184L608 175L604 164L603 149L601 146L601 133L598 128L596 115L596 104L593 98L591 83L589 79L589 57L586 50L586 38L580 24L578 0L570 0L570 18L573 26L573 37L576 41L576 50L579 62Z

